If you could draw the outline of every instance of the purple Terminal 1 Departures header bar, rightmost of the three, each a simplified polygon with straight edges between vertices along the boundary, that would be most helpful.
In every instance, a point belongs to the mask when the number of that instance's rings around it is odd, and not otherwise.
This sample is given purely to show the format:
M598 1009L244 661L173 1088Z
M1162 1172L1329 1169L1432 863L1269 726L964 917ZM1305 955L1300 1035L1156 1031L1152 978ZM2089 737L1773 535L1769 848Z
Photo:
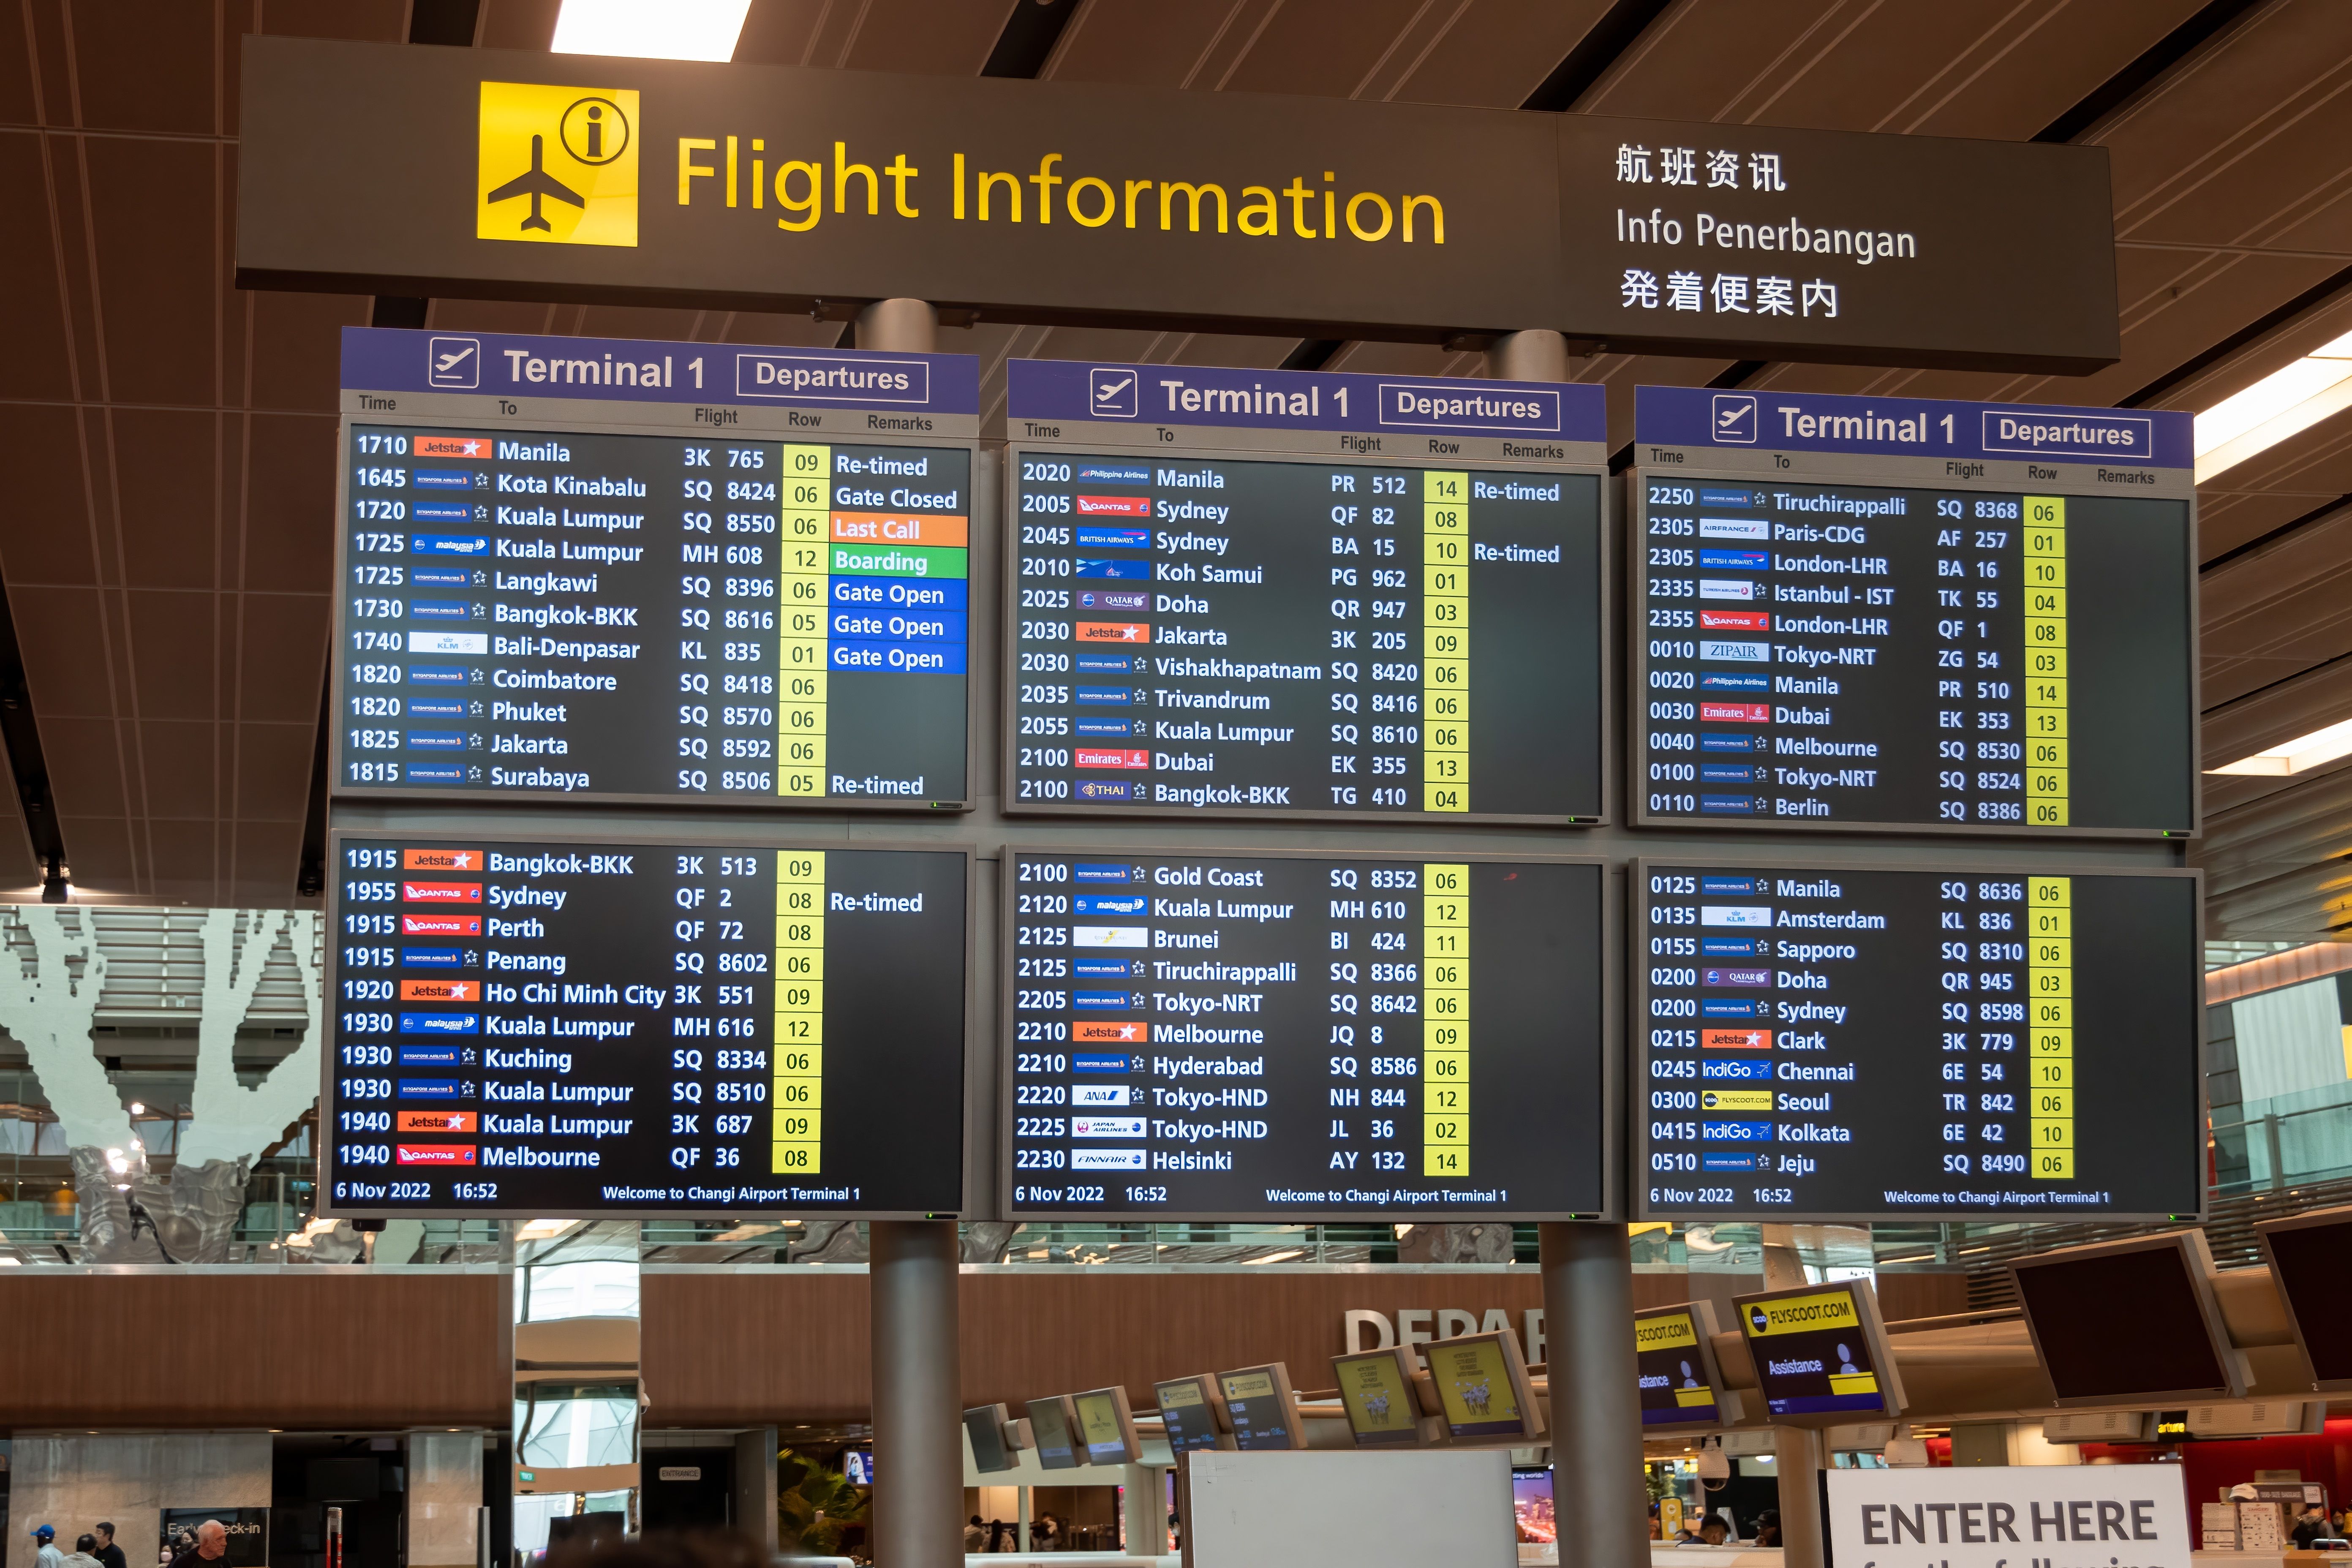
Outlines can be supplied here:
M1632 437L1656 447L1867 451L1905 458L2067 458L2194 468L2194 416L2046 402L1717 393L1637 386Z

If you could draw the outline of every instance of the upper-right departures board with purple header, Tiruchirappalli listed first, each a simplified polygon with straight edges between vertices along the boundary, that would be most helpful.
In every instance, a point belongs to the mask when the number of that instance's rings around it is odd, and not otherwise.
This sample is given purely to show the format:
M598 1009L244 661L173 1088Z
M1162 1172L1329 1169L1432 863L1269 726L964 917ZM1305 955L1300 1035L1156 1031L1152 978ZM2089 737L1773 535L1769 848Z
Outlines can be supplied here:
M2190 416L1635 393L1635 823L2197 832Z

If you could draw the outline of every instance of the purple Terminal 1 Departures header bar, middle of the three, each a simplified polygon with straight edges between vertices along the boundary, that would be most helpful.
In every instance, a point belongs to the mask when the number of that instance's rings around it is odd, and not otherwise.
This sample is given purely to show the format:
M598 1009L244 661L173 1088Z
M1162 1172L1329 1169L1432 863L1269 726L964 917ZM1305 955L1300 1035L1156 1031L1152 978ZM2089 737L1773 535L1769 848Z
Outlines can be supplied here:
M1011 360L1004 414L1105 425L1524 435L1552 442L1609 437L1606 400L1597 386L1209 364Z

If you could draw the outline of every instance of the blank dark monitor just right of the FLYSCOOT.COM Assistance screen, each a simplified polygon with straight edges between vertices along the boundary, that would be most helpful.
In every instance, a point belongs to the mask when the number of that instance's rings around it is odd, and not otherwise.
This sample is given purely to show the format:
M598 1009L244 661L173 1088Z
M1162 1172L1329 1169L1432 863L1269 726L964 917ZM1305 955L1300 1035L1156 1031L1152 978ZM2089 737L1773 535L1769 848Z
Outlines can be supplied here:
M2201 1244L2173 1234L2067 1248L2018 1258L2011 1272L2060 1406L2244 1392L2218 1331Z

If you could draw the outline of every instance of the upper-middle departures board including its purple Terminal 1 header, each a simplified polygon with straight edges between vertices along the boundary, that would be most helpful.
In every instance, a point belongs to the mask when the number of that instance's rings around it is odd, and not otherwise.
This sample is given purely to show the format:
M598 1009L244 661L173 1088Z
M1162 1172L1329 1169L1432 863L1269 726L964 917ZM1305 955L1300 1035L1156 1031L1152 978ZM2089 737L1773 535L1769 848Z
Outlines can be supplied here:
M1604 818L1602 390L1014 360L1004 809Z

